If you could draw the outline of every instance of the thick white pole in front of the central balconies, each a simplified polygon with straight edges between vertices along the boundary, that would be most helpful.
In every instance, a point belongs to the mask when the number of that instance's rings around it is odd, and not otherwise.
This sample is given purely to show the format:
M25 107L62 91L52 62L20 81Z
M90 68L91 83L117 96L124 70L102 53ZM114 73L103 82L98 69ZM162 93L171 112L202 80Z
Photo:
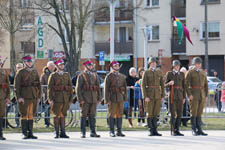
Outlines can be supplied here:
M115 2L116 0L109 0L110 7L110 62L114 60L114 35L115 35Z

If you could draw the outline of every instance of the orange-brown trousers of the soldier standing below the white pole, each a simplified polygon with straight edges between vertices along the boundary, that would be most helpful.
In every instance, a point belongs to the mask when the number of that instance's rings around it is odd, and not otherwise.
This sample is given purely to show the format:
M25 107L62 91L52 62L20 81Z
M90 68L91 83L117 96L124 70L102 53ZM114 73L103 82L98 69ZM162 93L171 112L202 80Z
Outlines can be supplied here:
M108 104L108 117L121 118L123 116L124 102L112 102Z

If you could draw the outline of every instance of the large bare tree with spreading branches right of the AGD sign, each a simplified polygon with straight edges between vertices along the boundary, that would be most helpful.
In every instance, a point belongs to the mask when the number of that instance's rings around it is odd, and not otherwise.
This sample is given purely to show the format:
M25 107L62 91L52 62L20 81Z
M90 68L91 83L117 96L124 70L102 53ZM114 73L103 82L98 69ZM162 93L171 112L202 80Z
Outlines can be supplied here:
M85 27L90 22L92 0L42 0L35 2L36 10L54 17L56 25L46 22L60 37L71 75L79 70ZM67 35L65 35L64 29ZM69 42L66 41L68 39Z

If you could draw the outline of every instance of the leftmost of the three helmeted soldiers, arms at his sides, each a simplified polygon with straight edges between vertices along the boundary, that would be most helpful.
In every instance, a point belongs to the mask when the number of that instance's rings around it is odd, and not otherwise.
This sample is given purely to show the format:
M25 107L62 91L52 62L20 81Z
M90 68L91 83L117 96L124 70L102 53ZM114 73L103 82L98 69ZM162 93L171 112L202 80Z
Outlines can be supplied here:
M149 69L142 77L142 95L144 107L147 115L149 136L162 136L157 131L157 117L160 113L161 103L165 96L163 74L156 68L157 60L155 57L149 58Z

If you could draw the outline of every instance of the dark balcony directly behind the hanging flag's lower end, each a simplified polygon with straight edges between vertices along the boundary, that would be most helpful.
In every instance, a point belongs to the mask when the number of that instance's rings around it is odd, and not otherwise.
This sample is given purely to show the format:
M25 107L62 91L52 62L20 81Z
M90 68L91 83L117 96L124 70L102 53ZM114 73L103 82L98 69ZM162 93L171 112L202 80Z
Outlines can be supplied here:
M171 39L171 52L172 54L186 53L186 39L183 39L181 44L178 39Z

